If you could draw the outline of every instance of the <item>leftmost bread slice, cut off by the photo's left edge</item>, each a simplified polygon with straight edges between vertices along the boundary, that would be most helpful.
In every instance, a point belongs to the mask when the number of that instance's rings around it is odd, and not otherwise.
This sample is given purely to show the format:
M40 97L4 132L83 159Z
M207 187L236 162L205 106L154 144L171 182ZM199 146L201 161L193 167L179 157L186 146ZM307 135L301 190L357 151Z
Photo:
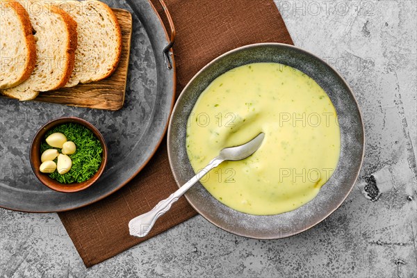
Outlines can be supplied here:
M36 62L35 38L26 10L16 1L0 1L0 90L31 76Z

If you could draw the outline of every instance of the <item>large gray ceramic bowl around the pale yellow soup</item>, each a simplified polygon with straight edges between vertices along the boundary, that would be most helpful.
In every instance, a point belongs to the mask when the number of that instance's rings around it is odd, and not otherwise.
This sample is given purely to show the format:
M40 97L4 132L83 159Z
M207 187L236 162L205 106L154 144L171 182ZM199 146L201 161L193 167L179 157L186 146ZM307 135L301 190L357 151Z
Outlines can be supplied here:
M311 202L277 215L235 211L218 202L201 183L188 190L186 198L206 220L233 234L259 239L285 238L313 227L341 206L357 180L363 160L364 132L359 106L341 75L323 60L298 47L278 43L251 44L215 58L190 80L174 106L168 127L168 155L174 178L182 186L195 174L186 152L186 127L199 95L224 72L261 62L295 67L311 76L329 95L341 130L341 155L334 174Z

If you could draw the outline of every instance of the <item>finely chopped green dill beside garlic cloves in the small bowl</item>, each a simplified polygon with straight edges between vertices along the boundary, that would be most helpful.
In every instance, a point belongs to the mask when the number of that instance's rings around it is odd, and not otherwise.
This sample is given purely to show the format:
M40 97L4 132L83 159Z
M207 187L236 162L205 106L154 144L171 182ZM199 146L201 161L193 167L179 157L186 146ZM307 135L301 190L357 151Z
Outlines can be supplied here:
M59 174L58 171L55 171L49 174L49 177L60 183L81 183L94 176L101 165L101 153L103 152L101 143L94 133L81 124L71 122L54 127L45 134L44 139L55 132L63 133L68 141L74 142L76 152L69 155L72 160L72 167L69 172ZM49 146L46 140L42 140L40 154L47 149L61 151L59 148ZM54 161L57 163L57 158Z

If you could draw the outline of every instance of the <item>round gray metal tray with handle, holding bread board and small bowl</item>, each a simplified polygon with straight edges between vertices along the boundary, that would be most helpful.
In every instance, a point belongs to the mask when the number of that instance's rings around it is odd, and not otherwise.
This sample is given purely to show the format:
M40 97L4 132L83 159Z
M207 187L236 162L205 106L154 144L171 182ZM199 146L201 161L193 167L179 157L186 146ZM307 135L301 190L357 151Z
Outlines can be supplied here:
M129 182L163 140L174 104L175 68L163 22L149 1L104 0L129 10L133 18L129 74L124 107L119 111L77 108L38 101L0 98L0 206L16 211L67 211L97 202ZM161 4L163 2L161 1ZM29 148L44 123L76 116L101 131L108 146L106 172L79 193L58 193L42 185L29 163Z

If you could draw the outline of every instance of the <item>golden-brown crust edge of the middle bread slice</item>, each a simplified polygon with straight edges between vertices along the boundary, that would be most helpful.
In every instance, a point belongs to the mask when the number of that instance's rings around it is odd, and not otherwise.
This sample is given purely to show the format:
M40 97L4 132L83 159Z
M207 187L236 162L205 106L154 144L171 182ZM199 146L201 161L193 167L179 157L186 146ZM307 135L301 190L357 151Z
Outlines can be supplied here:
M72 71L75 67L75 51L78 45L78 35L76 32L76 22L70 15L67 14L64 10L61 10L57 6L51 5L51 12L56 13L62 17L65 25L67 26L68 31L68 44L67 44L67 66L65 67L65 74L63 74L63 79L60 83L56 85L56 88L51 90L56 90L62 88L69 80L72 74Z

